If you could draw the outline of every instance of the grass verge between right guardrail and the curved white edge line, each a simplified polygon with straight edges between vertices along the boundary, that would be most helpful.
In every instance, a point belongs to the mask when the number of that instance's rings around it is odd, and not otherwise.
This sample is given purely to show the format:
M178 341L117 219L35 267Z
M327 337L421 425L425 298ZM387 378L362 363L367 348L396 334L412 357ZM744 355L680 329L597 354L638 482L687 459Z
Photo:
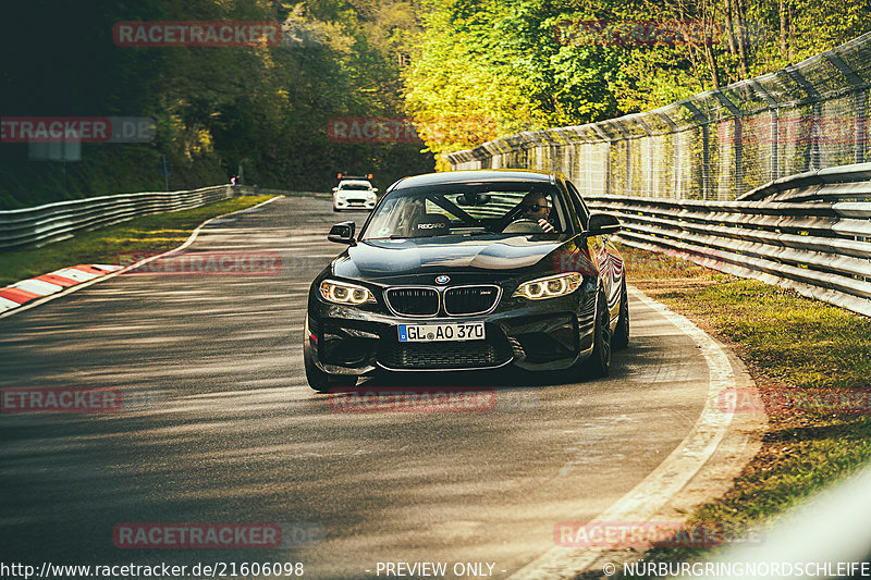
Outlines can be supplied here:
M859 391L871 377L871 320L678 258L626 246L621 251L630 283L744 360L769 416L760 453L729 492L691 515L690 528L715 522L740 531L762 523L871 459L871 409L868 393ZM848 403L838 407L813 398L832 392L846 392ZM784 394L799 403L784 405ZM710 552L654 547L645 559L679 562Z

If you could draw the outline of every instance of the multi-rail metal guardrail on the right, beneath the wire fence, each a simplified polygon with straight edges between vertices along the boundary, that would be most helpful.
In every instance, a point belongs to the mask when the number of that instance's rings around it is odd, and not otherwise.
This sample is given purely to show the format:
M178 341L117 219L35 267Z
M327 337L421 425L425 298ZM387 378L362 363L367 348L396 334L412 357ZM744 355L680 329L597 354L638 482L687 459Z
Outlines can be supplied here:
M871 316L871 163L777 180L738 201L586 196L626 245Z

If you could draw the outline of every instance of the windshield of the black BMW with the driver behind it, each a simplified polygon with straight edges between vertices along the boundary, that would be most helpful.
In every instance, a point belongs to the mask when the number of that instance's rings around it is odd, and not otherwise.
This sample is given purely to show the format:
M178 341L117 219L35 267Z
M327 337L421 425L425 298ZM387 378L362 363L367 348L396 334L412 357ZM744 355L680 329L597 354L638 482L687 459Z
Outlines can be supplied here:
M550 183L447 184L391 192L361 239L566 232L563 196Z

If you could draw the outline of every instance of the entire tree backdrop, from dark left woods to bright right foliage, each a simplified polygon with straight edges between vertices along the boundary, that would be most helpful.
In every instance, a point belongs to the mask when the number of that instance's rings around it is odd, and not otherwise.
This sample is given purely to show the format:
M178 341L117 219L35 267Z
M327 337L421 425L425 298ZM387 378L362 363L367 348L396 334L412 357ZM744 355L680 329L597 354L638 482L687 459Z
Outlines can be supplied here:
M0 36L3 116L151 116L157 139L81 162L0 147L0 208L220 183L326 190L432 169L419 144L331 141L336 116L413 115L439 156L519 131L599 121L776 70L868 28L866 0L61 0L17 2ZM739 10L740 8L740 10ZM739 12L739 13L736 13ZM560 41L564 21L707 21L713 46ZM257 48L124 48L122 21L273 21ZM746 54L729 42L746 29ZM34 35L33 30L39 30ZM410 65L405 66L406 58ZM441 166L444 166L443 161Z

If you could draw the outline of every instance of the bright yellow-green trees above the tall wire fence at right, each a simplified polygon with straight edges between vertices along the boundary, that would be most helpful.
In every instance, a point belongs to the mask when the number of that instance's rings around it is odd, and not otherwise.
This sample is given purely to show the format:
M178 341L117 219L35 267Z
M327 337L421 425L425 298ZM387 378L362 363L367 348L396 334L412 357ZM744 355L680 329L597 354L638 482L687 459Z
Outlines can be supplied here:
M863 0L428 0L424 8L406 103L442 168L443 153L499 136L650 110L772 72L859 36L869 22ZM672 46L555 34L561 23L589 21L624 30L704 22L714 34Z

